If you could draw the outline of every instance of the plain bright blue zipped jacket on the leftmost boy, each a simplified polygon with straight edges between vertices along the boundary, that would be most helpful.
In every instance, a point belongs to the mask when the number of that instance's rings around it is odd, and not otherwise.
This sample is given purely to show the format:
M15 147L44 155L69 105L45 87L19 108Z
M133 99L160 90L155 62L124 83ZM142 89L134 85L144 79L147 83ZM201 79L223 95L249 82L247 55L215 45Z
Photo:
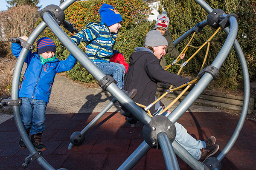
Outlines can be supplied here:
M19 57L21 49L20 45L12 43L12 54L15 57ZM70 54L66 60L60 61L56 58L43 65L39 55L29 51L25 59L27 68L20 85L19 97L44 100L48 103L56 73L71 70L76 61L76 58Z

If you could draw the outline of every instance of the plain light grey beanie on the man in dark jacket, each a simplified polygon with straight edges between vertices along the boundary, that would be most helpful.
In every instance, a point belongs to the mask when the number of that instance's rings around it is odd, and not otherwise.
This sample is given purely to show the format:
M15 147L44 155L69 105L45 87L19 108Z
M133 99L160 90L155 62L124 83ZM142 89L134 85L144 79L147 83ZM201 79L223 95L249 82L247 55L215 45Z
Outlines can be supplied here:
M165 37L161 34L160 31L151 30L146 34L145 37L145 46L148 47L157 47L160 45L168 46L168 42Z

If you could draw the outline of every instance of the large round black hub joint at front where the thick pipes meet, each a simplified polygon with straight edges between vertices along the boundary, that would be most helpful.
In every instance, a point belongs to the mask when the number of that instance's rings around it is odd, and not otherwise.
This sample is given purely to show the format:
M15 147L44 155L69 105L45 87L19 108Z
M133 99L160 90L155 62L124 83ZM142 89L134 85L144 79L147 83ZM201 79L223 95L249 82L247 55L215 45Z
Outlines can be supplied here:
M148 125L143 127L143 138L145 142L155 148L160 149L160 144L157 141L157 134L165 132L172 143L176 136L176 127L166 116L157 115L152 117Z

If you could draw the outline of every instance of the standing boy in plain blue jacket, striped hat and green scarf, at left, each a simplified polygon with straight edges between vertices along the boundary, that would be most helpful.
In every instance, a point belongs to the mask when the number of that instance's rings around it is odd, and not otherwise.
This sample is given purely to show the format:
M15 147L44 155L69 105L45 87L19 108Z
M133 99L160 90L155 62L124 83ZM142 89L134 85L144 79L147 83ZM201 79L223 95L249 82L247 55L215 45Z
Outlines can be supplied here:
M28 37L20 38L28 39ZM12 54L15 57L19 57L21 49L20 45L12 44ZM37 151L46 150L41 137L44 132L45 109L55 75L71 70L76 61L72 54L66 60L58 60L55 56L55 44L48 37L40 38L37 42L37 52L29 51L26 56L27 68L19 90L19 97L22 99L20 111L26 132L28 135L30 132L31 142ZM22 149L26 148L21 138L19 145Z

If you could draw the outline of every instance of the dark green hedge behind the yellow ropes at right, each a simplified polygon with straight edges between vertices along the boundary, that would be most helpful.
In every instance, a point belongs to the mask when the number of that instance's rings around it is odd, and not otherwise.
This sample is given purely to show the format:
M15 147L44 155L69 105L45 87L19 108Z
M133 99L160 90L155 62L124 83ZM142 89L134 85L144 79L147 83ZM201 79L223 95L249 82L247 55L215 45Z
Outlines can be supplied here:
M161 0L160 2L163 5L164 10L166 10L169 14L169 31L171 32L174 40L195 26L197 23L207 20L208 13L192 0ZM247 60L250 79L255 81L256 53L255 48L253 47L256 45L256 1L206 0L206 2L213 9L219 8L225 11L226 14L235 13L238 15L239 30L237 40L241 45L244 56ZM191 44L194 46L202 45L214 32L215 29L211 28L210 26L206 26L201 32L195 35L195 38L192 40ZM211 46L209 49L206 66L213 62L226 38L227 35L224 33L224 31L220 30L210 41ZM190 37L177 45L177 49L181 51L189 39ZM189 62L185 68L183 68L183 72L185 74L189 73L195 76L200 71L201 67L198 67L198 65L201 65L206 49L207 48L204 47L202 51L194 57L195 59ZM194 54L194 52L195 50L188 50L185 59L188 59L192 54ZM172 59L169 61L172 61ZM220 74L214 82L217 88L227 88L230 90L240 88L243 85L241 65L234 48L232 48L230 51L227 59L220 69Z

